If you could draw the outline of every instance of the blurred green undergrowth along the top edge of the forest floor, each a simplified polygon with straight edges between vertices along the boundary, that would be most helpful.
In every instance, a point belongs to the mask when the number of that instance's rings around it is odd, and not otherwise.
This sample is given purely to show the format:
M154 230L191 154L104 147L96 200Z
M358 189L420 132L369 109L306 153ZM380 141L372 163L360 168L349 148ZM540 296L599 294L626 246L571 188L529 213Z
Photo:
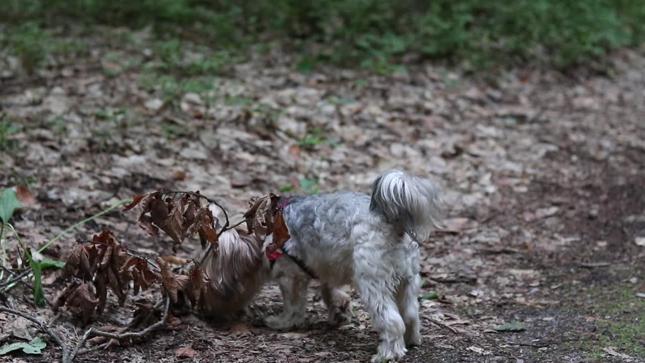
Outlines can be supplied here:
M481 68L539 61L568 67L645 40L645 0L4 0L0 42L27 61L70 24L152 25L217 50L279 41L315 63L393 70L402 54ZM164 50L172 61L176 44Z

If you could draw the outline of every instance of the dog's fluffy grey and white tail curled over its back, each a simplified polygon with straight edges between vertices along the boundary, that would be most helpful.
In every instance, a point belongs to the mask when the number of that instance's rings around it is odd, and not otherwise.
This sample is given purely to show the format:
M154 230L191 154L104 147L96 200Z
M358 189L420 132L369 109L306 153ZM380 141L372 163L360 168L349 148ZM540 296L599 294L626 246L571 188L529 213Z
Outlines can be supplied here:
M386 171L372 183L370 209L381 211L388 223L417 242L426 240L433 228L441 228L441 203L439 188L430 180L399 170Z

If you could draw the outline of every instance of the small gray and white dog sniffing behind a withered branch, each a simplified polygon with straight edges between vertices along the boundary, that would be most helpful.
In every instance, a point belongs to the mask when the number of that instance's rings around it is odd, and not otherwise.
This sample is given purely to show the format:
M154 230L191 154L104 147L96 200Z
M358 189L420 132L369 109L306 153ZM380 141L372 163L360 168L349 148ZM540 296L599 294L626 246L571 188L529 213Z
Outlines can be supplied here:
M319 278L331 324L351 315L344 285L353 284L381 331L372 362L399 360L406 346L421 344L419 333L419 242L439 227L441 198L433 183L398 170L372 184L372 196L339 192L283 200L291 234L284 254L265 254L272 235L259 245L235 230L220 236L219 253L204 270L212 278L207 311L227 315L248 304L268 280L277 282L284 311L265 322L272 329L293 329L306 319L306 289Z

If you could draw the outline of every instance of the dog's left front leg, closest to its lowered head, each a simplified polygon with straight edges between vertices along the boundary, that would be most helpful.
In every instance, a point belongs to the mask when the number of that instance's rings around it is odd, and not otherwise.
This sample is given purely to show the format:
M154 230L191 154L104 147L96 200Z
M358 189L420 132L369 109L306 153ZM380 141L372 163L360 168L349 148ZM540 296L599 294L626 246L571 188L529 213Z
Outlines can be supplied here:
M310 278L293 271L285 271L276 280L283 295L283 312L280 315L269 316L264 323L275 330L290 330L302 326L307 313L307 287Z

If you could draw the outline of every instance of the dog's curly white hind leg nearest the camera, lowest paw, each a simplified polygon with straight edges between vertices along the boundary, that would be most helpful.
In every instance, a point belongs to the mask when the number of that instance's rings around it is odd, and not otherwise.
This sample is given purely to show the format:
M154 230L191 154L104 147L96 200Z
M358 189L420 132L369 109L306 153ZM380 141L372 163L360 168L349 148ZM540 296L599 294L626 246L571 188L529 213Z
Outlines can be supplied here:
M372 326L381 331L381 344L378 353L372 356L372 362L400 360L408 352L403 340L405 324L393 293L386 286L386 279L365 278L364 275L358 287Z

